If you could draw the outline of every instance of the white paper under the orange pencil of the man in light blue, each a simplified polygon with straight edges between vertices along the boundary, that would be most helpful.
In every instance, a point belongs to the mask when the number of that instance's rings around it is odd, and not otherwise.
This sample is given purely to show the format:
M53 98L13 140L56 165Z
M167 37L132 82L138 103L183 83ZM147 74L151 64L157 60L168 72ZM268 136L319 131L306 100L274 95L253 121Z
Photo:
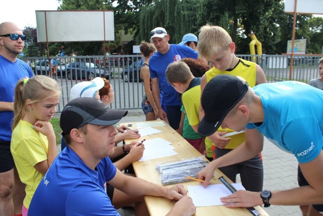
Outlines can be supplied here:
M245 190L241 183L232 184L237 190ZM225 205L220 201L221 197L232 194L223 184L208 185L203 188L202 185L187 186L189 196L193 199L196 207Z

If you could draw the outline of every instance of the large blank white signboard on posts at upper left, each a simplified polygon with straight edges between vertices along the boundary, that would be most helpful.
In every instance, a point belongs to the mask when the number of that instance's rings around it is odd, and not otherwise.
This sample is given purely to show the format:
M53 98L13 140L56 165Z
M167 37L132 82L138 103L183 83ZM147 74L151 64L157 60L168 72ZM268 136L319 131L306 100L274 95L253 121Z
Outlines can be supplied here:
M36 11L38 42L115 40L113 11Z

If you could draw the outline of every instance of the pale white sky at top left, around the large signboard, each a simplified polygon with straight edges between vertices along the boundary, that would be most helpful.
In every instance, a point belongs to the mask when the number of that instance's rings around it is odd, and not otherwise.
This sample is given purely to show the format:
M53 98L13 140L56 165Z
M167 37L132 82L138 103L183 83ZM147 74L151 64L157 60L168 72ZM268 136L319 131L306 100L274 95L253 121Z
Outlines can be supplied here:
M35 11L56 11L60 6L57 0L0 0L0 23L14 22L21 29L36 27Z

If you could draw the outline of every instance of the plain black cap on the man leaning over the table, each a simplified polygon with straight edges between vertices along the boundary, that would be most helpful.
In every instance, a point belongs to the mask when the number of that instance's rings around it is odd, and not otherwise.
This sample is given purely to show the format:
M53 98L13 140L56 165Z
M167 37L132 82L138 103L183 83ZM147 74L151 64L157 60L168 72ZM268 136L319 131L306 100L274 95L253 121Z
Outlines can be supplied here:
M232 75L218 75L210 79L203 90L201 105L204 117L198 125L198 133L207 137L221 126L228 112L248 91L248 83L243 83Z

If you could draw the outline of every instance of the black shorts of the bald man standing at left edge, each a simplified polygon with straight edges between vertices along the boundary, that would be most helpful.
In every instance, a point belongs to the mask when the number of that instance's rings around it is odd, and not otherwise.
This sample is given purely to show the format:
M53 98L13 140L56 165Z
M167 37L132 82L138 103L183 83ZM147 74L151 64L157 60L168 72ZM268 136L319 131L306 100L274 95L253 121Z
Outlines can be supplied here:
M0 140L0 172L7 172L14 168L15 162L10 151L10 141Z

